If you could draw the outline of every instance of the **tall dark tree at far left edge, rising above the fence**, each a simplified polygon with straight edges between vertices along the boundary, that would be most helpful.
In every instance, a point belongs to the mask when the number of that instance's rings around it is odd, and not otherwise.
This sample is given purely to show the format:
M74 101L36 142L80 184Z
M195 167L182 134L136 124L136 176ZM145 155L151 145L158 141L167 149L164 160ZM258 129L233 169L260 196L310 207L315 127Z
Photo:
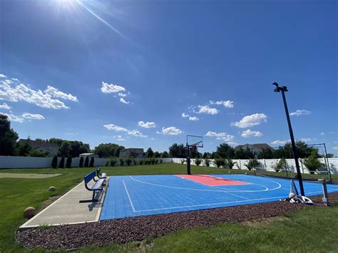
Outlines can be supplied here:
M0 155L16 155L16 140L19 135L11 129L11 122L0 114Z

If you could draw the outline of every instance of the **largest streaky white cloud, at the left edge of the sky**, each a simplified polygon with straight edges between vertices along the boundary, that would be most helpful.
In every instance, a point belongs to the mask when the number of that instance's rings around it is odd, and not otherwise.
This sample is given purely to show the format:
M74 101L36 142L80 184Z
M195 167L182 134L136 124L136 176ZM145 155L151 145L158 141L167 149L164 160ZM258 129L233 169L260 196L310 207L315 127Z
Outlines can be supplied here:
M60 100L53 99L51 94L44 93L43 91L40 90L34 91L33 89L29 88L29 86L24 85L24 83L20 83L19 85L16 86L11 86L11 83L8 81L0 81L0 100L8 100L11 102L18 102L22 100L42 108L51 108L51 109L69 108Z

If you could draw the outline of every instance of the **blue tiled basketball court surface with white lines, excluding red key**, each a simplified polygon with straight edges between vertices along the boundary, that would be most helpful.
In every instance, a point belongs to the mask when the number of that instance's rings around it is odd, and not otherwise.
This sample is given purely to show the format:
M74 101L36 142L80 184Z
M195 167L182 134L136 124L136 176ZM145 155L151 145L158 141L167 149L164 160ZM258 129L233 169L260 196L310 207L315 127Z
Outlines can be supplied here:
M248 184L210 186L176 175L111 176L100 220L270 202L290 193L290 180L252 175L210 176ZM336 192L338 185L327 185L327 190ZM319 195L322 185L304 182L304 191L307 197Z

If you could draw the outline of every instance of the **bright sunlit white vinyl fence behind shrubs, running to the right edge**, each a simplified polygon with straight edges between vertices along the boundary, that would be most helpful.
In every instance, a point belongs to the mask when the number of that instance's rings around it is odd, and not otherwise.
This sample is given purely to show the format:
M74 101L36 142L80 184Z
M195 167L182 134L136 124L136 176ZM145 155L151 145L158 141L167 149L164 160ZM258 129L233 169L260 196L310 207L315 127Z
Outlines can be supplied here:
M175 163L181 163L182 160L185 160L184 158L172 158L173 162ZM260 162L260 165L256 167L257 171L275 171L272 167L272 165L276 165L276 163L280 159L259 159L258 162ZM285 159L287 161L287 167L289 172L296 172L296 165L295 165L295 160L294 159ZM309 174L309 170L307 170L307 167L303 165L303 160L304 159L299 159L299 166L300 170L302 173ZM323 164L324 159L320 158L320 162ZM338 175L338 158L328 158L329 160L329 169L332 175ZM210 159L210 167L216 167L214 164L214 160ZM236 162L234 167L232 169L240 169L240 170L247 170L247 167L245 165L247 164L249 160L242 160L242 159L237 159L237 160L232 160L232 162ZM191 165L195 165L195 159L190 160ZM205 166L204 159L202 159L202 163L200 166ZM321 170L324 170L321 169Z

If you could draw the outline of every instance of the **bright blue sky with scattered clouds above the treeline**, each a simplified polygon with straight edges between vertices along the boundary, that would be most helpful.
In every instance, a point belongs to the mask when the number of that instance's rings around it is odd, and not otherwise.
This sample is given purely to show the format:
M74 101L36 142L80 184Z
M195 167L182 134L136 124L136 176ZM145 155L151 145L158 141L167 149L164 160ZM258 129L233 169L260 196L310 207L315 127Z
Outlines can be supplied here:
M0 3L0 112L21 138L168 150L295 138L338 155L337 1Z

